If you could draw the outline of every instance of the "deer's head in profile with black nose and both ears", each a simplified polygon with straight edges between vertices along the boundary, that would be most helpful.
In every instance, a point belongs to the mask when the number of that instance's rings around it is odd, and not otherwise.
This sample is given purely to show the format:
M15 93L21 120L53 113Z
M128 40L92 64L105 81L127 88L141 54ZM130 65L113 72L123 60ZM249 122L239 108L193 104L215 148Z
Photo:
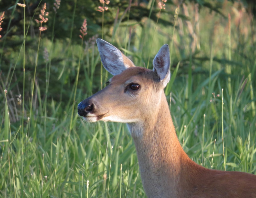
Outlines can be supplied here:
M104 68L114 76L104 89L78 104L78 114L88 122L122 123L142 122L143 117L152 116L159 104L158 95L161 96L170 79L168 45L158 51L153 61L154 69L150 70L135 67L110 43L102 39L96 42Z

